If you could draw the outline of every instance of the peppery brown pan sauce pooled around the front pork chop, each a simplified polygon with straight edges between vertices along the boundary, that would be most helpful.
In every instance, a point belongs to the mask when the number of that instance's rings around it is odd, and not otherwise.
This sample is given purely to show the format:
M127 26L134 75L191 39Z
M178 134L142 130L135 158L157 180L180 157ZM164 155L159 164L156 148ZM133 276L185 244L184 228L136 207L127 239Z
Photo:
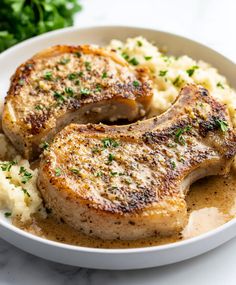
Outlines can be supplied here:
M37 236L93 248L137 248L173 243L216 228L236 214L236 175L208 177L194 183L186 197L189 224L184 231L169 237L152 237L136 241L104 241L80 233L52 216L47 219L34 217L30 224L15 224Z

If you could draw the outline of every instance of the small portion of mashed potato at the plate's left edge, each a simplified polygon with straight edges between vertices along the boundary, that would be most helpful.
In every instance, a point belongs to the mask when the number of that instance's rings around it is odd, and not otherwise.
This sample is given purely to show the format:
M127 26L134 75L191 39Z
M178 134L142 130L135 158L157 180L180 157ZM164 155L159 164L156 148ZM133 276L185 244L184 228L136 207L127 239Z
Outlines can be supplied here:
M26 222L37 212L45 215L36 186L38 170L30 169L28 160L16 156L3 134L0 134L0 159L0 209L4 209L5 216Z

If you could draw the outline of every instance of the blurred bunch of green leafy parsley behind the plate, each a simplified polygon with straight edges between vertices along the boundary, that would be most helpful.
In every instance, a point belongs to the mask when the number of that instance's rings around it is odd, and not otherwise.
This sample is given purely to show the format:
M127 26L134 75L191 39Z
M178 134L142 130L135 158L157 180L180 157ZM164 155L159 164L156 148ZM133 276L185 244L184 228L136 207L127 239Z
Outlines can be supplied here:
M73 25L77 0L1 0L0 52L30 37Z

